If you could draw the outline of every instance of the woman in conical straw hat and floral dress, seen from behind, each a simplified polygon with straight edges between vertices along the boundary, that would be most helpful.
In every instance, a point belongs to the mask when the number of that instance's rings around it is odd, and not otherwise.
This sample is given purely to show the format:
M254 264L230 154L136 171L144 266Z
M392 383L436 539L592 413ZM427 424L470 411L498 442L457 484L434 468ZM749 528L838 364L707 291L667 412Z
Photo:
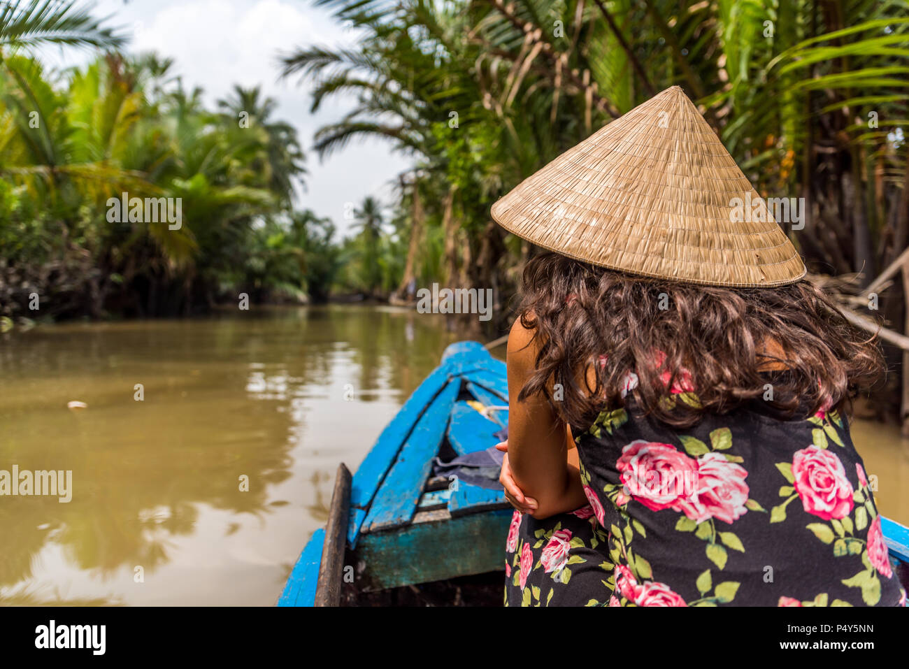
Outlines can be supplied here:
M494 205L554 252L508 343L506 604L904 604L844 420L880 354L753 197L674 87Z

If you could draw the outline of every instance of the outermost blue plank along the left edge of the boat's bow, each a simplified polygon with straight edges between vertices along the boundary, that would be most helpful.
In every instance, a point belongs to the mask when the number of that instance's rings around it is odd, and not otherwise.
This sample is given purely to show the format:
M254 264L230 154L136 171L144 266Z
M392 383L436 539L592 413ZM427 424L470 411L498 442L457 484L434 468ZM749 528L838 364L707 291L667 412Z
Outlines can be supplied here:
M429 374L395 414L392 422L385 427L373 448L366 454L363 463L357 468L351 484L351 514L347 528L347 543L351 548L356 546L362 523L366 517L366 510L370 507L379 484L382 483L385 474L394 464L395 457L407 436L413 431L420 416L425 413L426 407L445 388L448 381L449 370L445 364Z

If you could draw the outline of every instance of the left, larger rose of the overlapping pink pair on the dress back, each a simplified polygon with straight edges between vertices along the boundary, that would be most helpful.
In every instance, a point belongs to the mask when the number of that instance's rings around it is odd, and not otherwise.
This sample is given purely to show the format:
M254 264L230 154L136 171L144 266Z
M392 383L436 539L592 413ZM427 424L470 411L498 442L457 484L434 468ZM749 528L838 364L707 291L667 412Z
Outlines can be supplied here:
M677 451L671 444L643 439L627 444L615 466L624 493L631 494L651 511L681 510L684 481L690 481L697 475L694 459Z

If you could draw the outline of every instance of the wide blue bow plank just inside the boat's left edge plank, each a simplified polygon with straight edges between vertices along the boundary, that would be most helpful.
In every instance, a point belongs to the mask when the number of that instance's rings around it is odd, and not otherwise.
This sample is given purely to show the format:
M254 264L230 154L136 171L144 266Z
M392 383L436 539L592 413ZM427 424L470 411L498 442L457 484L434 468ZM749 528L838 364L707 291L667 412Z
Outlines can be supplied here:
M370 532L409 523L414 517L460 389L461 379L455 377L417 421L366 514L363 526Z

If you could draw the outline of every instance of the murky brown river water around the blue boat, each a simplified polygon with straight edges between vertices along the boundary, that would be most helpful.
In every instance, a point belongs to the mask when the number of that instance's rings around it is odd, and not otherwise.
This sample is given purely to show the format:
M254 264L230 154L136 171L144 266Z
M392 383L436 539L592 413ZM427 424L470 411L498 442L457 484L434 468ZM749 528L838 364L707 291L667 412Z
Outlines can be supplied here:
M0 335L0 470L73 473L68 503L0 496L0 604L275 604L337 464L355 470L459 338L364 305ZM909 524L909 441L853 435Z

